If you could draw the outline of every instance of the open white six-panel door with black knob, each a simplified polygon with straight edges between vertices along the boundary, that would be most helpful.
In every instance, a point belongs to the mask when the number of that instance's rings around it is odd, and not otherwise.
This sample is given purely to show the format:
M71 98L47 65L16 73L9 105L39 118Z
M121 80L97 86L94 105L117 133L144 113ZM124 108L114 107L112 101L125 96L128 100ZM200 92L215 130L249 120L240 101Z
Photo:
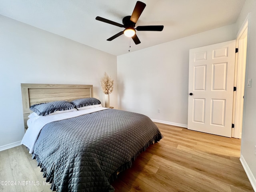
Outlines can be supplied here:
M236 40L191 49L188 129L231 137Z

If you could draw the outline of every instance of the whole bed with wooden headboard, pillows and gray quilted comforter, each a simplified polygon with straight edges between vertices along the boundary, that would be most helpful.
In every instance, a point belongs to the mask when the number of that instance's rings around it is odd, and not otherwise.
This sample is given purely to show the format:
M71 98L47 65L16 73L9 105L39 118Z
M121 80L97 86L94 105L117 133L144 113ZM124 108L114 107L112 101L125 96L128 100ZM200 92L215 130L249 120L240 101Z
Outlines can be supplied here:
M21 88L28 124L22 144L54 191L114 191L118 173L163 137L145 115L102 107L92 85Z

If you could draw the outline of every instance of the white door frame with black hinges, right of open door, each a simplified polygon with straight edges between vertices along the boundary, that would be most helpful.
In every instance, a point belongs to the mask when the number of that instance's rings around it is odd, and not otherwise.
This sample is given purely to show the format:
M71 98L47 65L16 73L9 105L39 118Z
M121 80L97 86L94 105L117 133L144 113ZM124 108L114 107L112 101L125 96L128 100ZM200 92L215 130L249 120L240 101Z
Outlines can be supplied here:
M238 48L238 54L236 54L235 60L235 76L234 76L234 87L237 87L237 91L234 91L233 99L233 118L232 123L234 129L232 129L232 137L242 138L242 121L243 121L243 108L244 108L244 93L247 85L246 78L246 63L247 63L247 50L248 50L248 27L249 27L249 15L246 17L242 27L240 28L236 37L236 48ZM244 46L239 44L240 40L246 36L246 50ZM238 58L239 52L245 52L244 59ZM242 82L240 82L242 81ZM242 88L241 88L242 86Z

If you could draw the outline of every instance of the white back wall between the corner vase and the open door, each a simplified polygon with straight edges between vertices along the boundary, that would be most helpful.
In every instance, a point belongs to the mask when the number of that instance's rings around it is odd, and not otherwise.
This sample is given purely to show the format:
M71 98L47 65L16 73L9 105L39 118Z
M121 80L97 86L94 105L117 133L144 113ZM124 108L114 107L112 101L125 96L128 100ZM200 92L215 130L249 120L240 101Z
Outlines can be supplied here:
M119 108L186 127L189 49L234 40L236 32L225 26L118 56Z

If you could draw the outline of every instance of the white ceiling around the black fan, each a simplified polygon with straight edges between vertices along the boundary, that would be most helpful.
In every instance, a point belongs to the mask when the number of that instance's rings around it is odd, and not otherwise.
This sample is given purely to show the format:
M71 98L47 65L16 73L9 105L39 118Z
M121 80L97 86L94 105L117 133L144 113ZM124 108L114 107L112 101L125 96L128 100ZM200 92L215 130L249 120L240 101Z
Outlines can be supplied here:
M164 25L162 32L137 31L130 52L234 24L245 0L141 0L146 3L136 26ZM95 20L100 16L122 24L136 0L0 0L0 14L113 55L128 53L124 30Z

